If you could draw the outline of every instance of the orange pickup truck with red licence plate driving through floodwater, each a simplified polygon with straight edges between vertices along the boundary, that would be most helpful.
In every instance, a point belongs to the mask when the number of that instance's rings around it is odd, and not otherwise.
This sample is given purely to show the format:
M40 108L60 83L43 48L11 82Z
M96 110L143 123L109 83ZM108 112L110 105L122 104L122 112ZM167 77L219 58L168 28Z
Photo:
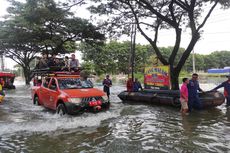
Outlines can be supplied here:
M109 108L109 100L103 91L74 74L53 73L43 77L40 84L32 87L32 99L35 105L56 110L60 115Z

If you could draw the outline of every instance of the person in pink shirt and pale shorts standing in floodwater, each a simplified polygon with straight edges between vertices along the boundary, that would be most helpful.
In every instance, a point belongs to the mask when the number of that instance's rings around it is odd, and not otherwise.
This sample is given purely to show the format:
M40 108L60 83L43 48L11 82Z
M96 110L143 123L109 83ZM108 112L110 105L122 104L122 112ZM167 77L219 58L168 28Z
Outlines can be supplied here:
M180 102L181 102L181 113L188 112L188 88L187 85L189 83L188 78L182 79L183 84L180 88Z

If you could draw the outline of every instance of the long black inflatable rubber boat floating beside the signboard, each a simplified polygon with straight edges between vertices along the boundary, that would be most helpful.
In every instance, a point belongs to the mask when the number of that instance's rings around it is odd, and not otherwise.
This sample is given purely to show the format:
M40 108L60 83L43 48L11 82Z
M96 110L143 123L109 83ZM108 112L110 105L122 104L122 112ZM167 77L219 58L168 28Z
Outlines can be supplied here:
M118 97L123 102L168 105L180 107L180 92L174 90L143 90L139 92L121 92ZM225 97L221 92L199 93L203 108L216 107L224 103Z

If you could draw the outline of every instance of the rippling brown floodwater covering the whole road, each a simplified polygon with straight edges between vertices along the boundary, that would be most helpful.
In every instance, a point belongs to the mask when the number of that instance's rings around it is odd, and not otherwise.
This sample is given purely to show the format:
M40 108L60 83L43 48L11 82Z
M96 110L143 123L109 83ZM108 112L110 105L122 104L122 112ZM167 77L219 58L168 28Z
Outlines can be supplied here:
M225 104L181 116L179 108L124 104L117 97L122 90L112 87L106 112L61 117L34 106L30 87L18 85L0 104L0 152L230 152Z

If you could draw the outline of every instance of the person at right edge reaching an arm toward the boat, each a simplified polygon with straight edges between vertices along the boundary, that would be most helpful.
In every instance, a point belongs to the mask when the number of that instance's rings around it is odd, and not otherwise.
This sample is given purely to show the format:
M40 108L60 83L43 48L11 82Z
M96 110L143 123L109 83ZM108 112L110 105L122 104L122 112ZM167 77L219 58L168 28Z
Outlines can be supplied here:
M224 81L223 83L221 83L220 85L218 85L217 87L215 87L214 89L212 89L211 91L216 91L219 88L224 87L224 96L226 98L226 106L230 106L230 74L226 76L228 78L227 81Z

